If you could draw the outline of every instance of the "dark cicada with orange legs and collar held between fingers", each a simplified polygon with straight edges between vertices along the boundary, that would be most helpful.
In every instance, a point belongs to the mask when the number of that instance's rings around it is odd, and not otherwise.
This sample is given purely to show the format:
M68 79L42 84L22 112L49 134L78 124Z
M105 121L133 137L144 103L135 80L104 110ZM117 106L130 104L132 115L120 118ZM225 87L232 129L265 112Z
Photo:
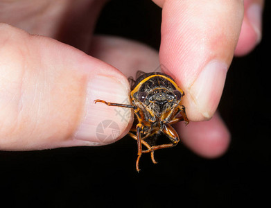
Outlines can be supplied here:
M141 71L142 72L142 71ZM132 105L109 103L95 100L110 106L130 107L134 109L137 124L128 135L137 140L137 163L139 172L139 159L142 153L150 153L152 162L156 164L154 151L161 148L170 148L179 141L179 136L171 126L179 121L189 123L185 107L182 105L184 92L177 86L173 78L164 73L143 73L137 80L130 80ZM152 138L164 133L170 140L169 144L152 145ZM146 147L143 150L142 145Z

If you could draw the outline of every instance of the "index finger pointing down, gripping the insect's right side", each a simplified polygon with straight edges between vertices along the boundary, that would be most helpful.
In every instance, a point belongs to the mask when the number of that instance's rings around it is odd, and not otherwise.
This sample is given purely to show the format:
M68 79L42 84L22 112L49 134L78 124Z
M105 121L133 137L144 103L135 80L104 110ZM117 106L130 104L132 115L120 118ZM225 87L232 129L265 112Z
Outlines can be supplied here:
M243 20L243 1L164 1L159 57L184 90L191 121L218 107Z

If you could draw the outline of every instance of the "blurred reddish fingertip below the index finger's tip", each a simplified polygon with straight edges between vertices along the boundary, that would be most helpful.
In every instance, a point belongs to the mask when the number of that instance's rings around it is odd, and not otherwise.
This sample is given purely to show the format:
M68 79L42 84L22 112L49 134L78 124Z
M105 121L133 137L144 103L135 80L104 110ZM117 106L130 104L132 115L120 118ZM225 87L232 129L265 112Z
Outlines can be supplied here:
M191 122L187 126L180 123L178 126L181 141L202 157L219 157L229 147L229 131L217 113L209 121Z

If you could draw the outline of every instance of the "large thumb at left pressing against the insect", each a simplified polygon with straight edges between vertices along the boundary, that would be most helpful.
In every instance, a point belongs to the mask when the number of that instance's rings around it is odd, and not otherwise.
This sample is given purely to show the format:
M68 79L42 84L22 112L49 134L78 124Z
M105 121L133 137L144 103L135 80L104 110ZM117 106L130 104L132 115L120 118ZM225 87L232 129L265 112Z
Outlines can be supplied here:
M94 104L128 101L125 76L71 46L1 24L0 74L1 150L110 144L130 129L131 111Z

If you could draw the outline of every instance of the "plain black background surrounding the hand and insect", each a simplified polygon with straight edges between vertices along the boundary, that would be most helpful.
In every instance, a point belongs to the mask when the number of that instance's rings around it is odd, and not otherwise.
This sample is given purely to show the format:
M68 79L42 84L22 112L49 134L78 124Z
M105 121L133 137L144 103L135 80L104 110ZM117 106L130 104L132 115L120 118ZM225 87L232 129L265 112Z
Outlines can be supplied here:
M0 152L1 204L8 207L244 207L270 206L270 2L263 40L234 58L219 109L231 131L229 150L204 159L182 144L149 155L134 168L136 142L109 146ZM120 35L159 49L161 9L151 1L113 0L97 33Z

